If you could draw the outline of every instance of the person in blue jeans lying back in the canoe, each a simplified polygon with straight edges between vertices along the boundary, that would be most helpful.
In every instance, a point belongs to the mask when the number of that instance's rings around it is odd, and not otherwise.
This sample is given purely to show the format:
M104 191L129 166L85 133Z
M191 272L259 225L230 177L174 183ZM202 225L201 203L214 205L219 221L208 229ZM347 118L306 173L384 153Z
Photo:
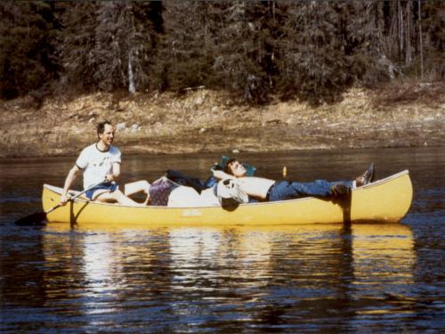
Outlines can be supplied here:
M310 183L274 181L255 176L246 176L246 168L237 159L229 159L222 170L214 170L214 176L219 179L237 180L241 191L258 200L291 200L301 197L331 197L346 195L352 188L360 187L374 180L375 169L371 163L368 169L349 182L328 182L316 180Z

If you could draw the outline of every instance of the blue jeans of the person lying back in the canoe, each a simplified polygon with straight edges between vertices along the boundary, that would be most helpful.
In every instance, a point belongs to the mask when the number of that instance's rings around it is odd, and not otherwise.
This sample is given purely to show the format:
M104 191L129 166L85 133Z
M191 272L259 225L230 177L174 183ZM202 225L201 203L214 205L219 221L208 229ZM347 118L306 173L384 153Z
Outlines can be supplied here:
M352 188L352 181L328 182L326 180L315 180L307 183L279 181L272 185L269 200L292 200L308 196L329 197L332 195L331 186L337 183Z

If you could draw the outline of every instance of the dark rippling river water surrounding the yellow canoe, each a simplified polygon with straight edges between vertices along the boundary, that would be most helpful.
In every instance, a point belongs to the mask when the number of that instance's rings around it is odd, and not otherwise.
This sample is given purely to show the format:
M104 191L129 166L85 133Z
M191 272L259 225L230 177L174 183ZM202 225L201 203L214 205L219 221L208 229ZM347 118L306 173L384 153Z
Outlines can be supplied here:
M257 175L377 178L409 169L400 224L70 228L41 211L75 158L0 162L2 332L440 332L445 329L445 154L381 149L240 154ZM125 157L123 182L167 168L206 177L215 155Z

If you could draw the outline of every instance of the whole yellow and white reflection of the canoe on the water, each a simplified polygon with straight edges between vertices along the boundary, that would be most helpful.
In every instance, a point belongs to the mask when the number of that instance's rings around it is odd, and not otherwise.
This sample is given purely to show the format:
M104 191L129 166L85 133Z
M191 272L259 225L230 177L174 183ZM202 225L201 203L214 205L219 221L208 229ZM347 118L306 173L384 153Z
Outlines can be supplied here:
M138 230L52 223L44 259L48 303L68 303L69 314L139 310L152 320L225 314L246 322L286 315L296 322L341 307L351 324L408 302L415 253L403 224ZM383 308L388 297L398 304Z

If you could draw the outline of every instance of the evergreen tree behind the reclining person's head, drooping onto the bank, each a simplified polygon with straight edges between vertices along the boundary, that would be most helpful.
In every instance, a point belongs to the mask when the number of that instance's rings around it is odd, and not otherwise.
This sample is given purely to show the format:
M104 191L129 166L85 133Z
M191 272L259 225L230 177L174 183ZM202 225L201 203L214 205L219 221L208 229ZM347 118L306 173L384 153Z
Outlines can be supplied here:
M214 71L224 88L243 92L247 102L265 102L276 68L275 2L235 1L223 8Z

